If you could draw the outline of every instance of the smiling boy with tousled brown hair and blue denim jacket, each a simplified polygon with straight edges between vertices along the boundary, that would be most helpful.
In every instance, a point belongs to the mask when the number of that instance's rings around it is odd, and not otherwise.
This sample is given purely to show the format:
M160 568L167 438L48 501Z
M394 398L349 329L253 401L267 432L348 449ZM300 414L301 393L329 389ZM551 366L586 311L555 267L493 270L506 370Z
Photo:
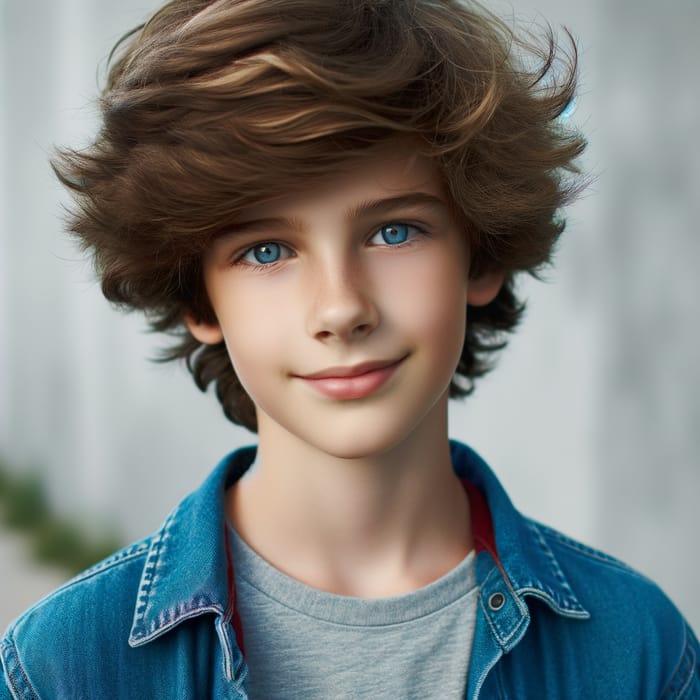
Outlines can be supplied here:
M577 189L557 65L457 0L173 0L130 35L56 164L72 229L258 445L20 617L0 698L700 697L663 593L447 438Z

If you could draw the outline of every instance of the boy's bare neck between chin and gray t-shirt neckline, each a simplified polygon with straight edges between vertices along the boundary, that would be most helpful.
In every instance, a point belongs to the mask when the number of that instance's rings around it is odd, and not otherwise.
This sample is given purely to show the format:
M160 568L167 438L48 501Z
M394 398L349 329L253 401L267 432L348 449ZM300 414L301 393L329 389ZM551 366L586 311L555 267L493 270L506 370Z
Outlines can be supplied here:
M358 458L263 421L256 468L229 493L229 519L270 564L314 588L376 598L427 585L472 548L446 407L438 418Z

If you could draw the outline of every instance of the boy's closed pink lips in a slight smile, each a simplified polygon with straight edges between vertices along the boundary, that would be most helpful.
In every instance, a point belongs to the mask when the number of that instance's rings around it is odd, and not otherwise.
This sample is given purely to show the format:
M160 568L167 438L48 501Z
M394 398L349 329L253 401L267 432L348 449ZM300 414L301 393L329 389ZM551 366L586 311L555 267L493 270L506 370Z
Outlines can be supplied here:
M405 359L365 362L354 367L331 367L300 376L299 379L331 399L361 399L382 387Z

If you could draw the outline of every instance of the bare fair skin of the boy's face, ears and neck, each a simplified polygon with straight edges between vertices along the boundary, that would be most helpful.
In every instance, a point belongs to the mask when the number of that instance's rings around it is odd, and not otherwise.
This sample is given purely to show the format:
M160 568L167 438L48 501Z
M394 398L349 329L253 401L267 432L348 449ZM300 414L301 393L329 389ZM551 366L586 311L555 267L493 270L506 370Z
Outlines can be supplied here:
M230 492L229 517L277 568L380 597L470 551L448 387L465 305L488 303L502 276L468 269L439 173L405 143L243 211L208 251L218 322L188 326L202 342L225 340L259 426L258 466ZM337 378L367 362L381 368ZM319 372L336 378L309 379Z

